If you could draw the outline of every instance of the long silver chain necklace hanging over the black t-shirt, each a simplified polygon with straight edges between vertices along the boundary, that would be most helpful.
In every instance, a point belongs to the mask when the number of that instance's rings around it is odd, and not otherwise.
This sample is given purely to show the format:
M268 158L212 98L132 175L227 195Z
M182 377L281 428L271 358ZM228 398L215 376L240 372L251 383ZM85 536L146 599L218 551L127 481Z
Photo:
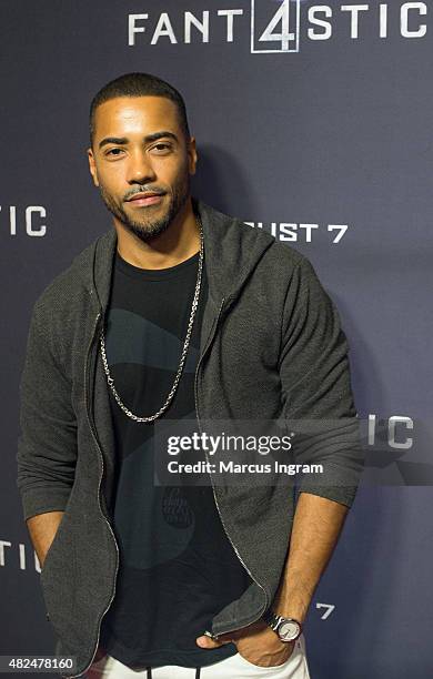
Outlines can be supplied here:
M113 396L114 396L115 401L118 402L119 406L122 408L123 413L125 415L128 415L128 417L130 417L131 419L135 419L135 422L153 422L154 419L160 417L162 415L162 413L164 413L167 411L167 408L169 407L169 405L170 405L170 403L171 403L171 401L172 401L172 398L174 396L175 389L178 388L178 384L179 384L179 381L181 378L181 375L182 375L183 365L185 363L187 352L188 352L188 347L189 347L189 344L190 344L192 325L194 323L195 311L197 311L197 307L199 305L199 295L200 295L200 287L201 287L201 274L202 274L202 268L203 268L203 255L204 255L203 226L202 226L202 223L201 223L201 220L200 220L199 215L197 215L197 221L198 221L198 224L199 224L199 227L200 227L200 257L199 257L199 268L198 268L198 274L197 274L195 292L194 292L194 297L193 297L193 301L192 301L192 308L191 308L191 314L190 314L190 321L188 323L187 336L185 336L185 341L183 343L182 354L181 354L178 372L177 372L175 377L174 377L173 386L171 387L171 389L169 392L169 395L168 395L168 397L165 399L165 403L163 404L163 406L161 406L161 408L154 415L149 415L148 417L139 417L138 415L134 415L133 413L131 413L131 411L129 408L127 408L127 406L122 403L118 392L115 391L114 381L113 381L113 378L110 375L110 369L109 369L109 365L108 365L108 361L107 361L107 354L105 354L105 340L104 340L103 327L101 330L101 336L100 336L101 355L102 355L102 363L103 363L103 367L104 367L104 371L105 371L108 385L109 385L110 389L112 391Z

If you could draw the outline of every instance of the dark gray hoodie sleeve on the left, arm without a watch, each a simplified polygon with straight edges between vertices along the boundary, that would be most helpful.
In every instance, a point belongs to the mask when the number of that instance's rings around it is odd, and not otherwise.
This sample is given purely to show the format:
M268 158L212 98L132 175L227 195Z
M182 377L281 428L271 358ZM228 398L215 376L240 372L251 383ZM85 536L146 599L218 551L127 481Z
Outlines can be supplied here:
M34 304L20 381L17 486L24 519L64 510L77 463L77 420L71 384L58 365L49 324Z

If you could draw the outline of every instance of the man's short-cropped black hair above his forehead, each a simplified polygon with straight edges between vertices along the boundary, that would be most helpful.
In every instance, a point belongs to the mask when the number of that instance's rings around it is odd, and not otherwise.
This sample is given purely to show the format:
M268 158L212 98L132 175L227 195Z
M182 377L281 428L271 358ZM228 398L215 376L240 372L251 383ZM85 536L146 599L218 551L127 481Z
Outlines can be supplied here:
M93 97L90 104L90 145L94 136L94 113L98 107L117 97L164 97L170 99L178 108L179 121L187 140L190 139L188 125L187 107L183 97L173 85L151 73L124 73L114 80L110 80Z

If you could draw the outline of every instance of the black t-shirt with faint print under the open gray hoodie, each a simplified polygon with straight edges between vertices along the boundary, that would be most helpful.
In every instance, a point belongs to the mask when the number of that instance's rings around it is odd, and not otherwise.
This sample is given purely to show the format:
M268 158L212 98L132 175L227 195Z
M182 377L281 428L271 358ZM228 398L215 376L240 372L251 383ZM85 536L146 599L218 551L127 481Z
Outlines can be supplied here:
M199 253L175 266L142 270L115 254L105 328L114 387L135 415L164 403L179 366ZM182 377L162 415L194 419L194 372L208 283L202 287ZM236 648L201 649L195 638L251 584L222 526L209 485L154 485L153 423L138 423L110 389L117 445L113 529L120 565L102 619L101 646L129 667L202 667Z

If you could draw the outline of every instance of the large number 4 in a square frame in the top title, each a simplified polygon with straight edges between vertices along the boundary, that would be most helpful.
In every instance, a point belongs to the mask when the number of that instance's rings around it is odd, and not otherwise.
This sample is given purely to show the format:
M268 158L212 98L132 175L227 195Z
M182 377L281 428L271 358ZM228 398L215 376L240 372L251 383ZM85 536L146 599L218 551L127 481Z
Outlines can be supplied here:
M300 0L280 0L279 9L260 37L256 38L256 27L262 23L264 4L266 3L261 0L258 3L255 3L255 0L251 0L251 52L253 54L299 52ZM290 28L293 23L294 31L291 31ZM258 47L256 42L268 44ZM274 45L275 42L278 45ZM269 43L272 43L272 49Z

